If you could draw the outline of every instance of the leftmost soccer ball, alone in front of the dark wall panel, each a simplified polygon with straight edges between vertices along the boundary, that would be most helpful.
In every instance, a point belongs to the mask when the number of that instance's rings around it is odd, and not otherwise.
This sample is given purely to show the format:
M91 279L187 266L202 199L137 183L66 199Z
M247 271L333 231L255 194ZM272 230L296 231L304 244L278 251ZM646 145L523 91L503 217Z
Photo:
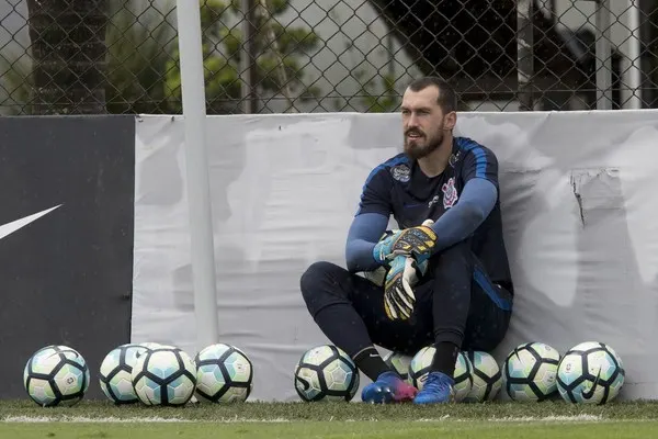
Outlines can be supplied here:
M27 360L23 385L32 401L43 407L72 406L89 389L89 368L77 350L46 346Z

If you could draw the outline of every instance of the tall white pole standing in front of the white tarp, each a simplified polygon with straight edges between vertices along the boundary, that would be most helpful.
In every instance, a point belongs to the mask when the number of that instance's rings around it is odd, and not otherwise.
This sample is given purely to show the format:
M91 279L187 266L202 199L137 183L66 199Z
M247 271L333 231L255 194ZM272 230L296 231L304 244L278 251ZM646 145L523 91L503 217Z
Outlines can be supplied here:
M206 111L198 0L177 0L181 94L197 350L217 342L215 245L206 156Z

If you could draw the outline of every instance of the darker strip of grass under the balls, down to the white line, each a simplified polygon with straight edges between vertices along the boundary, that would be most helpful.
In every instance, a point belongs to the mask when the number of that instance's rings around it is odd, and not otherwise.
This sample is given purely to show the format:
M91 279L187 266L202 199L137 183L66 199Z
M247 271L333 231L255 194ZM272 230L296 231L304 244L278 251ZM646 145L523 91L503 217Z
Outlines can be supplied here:
M418 420L491 418L549 418L595 416L603 419L654 419L658 402L619 402L603 406L574 405L561 401L542 403L451 404L434 406L370 405L363 403L242 403L229 405L188 404L184 407L115 406L110 402L83 401L73 407L43 408L31 401L0 402L0 419L47 416L55 419L164 417L189 420Z

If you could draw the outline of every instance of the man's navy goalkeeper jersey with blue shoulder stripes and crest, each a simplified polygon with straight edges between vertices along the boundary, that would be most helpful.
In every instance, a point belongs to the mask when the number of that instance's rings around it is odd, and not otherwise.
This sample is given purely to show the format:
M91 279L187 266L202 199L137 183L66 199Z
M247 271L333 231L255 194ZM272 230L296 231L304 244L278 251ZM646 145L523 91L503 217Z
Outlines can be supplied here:
M462 189L475 178L486 179L499 189L496 155L470 138L454 138L449 165L436 177L427 177L416 160L401 153L372 170L363 187L356 215L393 215L400 228L418 226L428 218L436 221L458 203ZM472 250L492 282L511 289L500 194L491 213L474 233Z

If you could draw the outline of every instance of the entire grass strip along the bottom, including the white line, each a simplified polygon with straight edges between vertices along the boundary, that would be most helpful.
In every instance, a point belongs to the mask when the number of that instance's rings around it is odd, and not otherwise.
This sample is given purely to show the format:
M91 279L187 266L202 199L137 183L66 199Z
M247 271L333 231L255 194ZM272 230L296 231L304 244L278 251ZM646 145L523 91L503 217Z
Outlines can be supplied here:
M82 402L42 408L0 402L0 438L653 438L658 403L575 406L561 402L417 407L340 403L116 407Z

